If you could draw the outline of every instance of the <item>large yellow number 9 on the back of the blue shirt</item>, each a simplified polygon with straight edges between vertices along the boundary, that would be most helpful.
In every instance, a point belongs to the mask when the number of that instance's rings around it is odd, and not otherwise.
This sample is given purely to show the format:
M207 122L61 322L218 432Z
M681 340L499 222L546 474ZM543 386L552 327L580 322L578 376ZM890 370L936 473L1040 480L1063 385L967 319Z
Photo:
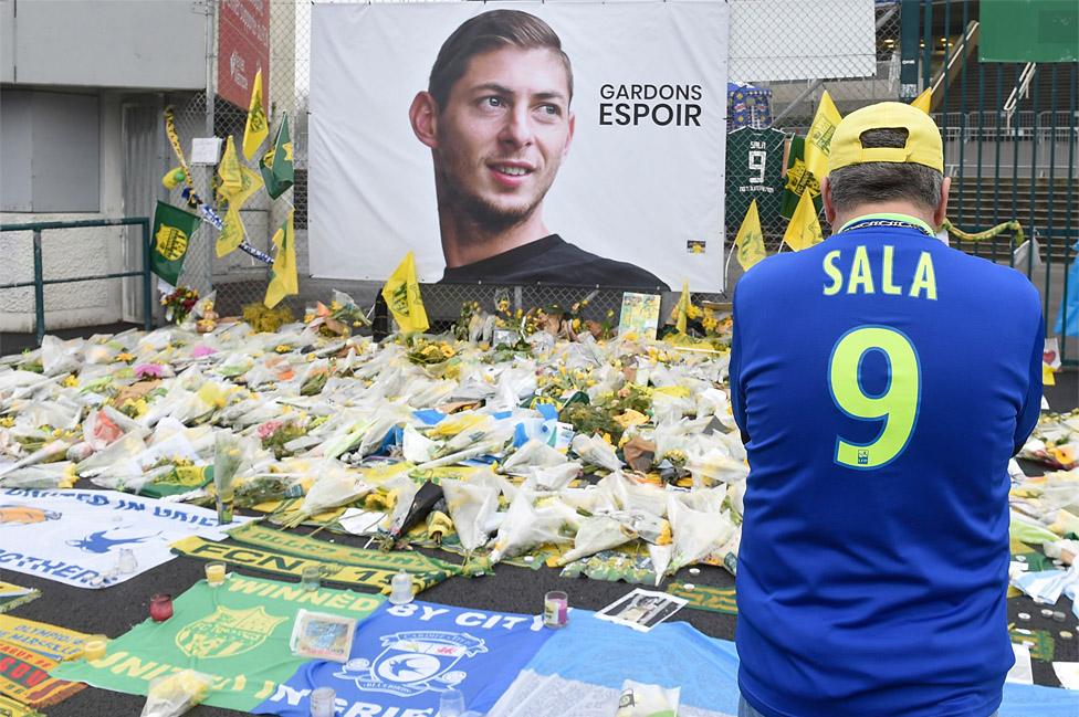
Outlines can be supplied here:
M879 394L866 392L861 365L870 351L880 351L888 365L888 381ZM835 461L850 468L880 468L907 449L921 402L922 377L918 352L902 331L887 326L860 326L844 334L831 349L828 388L832 401L848 417L881 421L877 437L851 443L836 437Z

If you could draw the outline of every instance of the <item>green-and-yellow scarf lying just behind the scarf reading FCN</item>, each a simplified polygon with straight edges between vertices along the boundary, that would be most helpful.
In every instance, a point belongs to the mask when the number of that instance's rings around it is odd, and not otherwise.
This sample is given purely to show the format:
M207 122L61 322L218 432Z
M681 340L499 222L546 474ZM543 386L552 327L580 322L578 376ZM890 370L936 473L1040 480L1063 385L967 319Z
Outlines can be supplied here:
M280 551L291 556L312 558L326 563L339 563L377 571L385 579L381 586L389 589L389 579L395 572L404 570L412 576L418 590L426 590L447 578L460 574L458 566L429 558L420 552L367 550L337 545L305 535L285 533L266 528L258 523L248 523L229 530L229 537L247 545L269 551ZM333 580L327 573L326 579Z

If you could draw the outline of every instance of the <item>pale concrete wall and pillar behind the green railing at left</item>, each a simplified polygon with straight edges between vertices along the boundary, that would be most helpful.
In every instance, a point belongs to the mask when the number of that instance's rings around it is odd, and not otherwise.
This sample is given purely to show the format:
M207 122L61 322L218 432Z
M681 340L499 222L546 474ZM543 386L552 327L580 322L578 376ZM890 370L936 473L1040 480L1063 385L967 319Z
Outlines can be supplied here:
M21 6L21 3L20 3ZM123 138L121 131L121 95L101 93L99 115L99 188L97 212L77 213L0 213L0 222L75 221L122 217ZM42 234L42 259L45 278L65 278L86 274L123 271L124 236L119 228L51 230ZM33 247L30 232L0 234L3 262L0 262L0 284L33 281ZM108 280L45 286L45 326L48 329L104 324L121 317L121 282ZM0 292L0 330L32 331L34 329L33 288L12 288Z

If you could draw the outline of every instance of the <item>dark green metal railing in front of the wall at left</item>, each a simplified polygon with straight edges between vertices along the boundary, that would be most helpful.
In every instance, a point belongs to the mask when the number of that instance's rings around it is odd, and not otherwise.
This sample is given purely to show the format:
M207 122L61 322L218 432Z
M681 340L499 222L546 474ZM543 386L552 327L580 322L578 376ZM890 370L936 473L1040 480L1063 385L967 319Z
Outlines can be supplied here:
M71 276L67 278L45 278L41 255L41 233L54 229L84 229L87 226L128 226L138 225L143 230L143 268L137 272L113 272L111 274L94 274L91 276ZM27 222L24 224L0 224L0 232L32 232L34 278L32 282L13 282L0 284L0 289L34 287L34 334L38 346L45 337L45 285L74 284L76 282L94 282L104 278L126 278L128 276L143 277L143 327L153 327L154 310L150 288L150 220L146 217L123 217L121 219L82 219L70 222Z

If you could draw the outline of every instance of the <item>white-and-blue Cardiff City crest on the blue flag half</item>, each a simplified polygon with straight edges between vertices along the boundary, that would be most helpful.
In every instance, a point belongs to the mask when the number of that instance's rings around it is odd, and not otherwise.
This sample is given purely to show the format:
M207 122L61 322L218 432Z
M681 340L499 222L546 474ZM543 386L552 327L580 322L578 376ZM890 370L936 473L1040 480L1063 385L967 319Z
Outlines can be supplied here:
M453 687L468 677L458 663L488 652L479 637L433 630L383 635L381 643L383 652L375 660L349 660L334 676L352 679L365 692L412 697Z

